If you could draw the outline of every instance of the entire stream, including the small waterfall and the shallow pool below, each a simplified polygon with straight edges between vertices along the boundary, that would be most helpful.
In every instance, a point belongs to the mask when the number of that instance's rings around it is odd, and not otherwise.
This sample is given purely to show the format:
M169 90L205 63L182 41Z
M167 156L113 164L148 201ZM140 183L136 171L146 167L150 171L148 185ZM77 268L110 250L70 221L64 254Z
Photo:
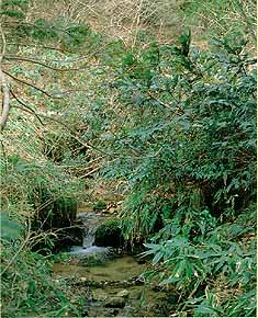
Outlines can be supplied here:
M82 246L71 247L69 260L54 264L54 277L65 279L85 302L88 317L164 317L175 305L175 293L147 284L142 273L148 263L137 257L94 246L94 234L105 216L79 215L83 219Z

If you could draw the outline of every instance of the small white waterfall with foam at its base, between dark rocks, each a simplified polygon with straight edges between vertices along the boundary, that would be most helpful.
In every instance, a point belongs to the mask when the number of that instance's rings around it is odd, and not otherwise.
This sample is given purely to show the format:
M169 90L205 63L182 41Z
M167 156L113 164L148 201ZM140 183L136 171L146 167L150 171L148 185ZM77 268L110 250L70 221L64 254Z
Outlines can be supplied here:
M97 247L93 245L97 228L104 220L104 216L97 213L80 213L77 217L83 223L82 247L71 247L70 252L80 254L106 252L109 248Z

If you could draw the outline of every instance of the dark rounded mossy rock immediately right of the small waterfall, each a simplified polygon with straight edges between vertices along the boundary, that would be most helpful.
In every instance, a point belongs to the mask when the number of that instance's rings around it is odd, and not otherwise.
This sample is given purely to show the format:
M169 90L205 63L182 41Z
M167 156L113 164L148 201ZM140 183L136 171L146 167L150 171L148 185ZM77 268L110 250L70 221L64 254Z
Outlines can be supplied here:
M100 225L96 231L94 243L98 247L122 247L124 238L120 223L117 220L108 220Z

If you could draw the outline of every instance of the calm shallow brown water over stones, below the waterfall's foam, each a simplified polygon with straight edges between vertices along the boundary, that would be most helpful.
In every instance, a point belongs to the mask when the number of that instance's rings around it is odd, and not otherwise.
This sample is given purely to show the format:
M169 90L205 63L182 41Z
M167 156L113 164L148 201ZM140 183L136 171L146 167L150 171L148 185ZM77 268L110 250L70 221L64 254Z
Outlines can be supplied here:
M154 285L135 284L147 264L139 264L131 255L108 260L103 265L83 266L81 259L77 263L56 263L54 276L70 277L81 283L76 286L75 293L85 295L86 313L89 317L164 317L162 308L167 294L157 291ZM74 277L74 279L72 279ZM85 284L83 284L85 282ZM131 282L131 283L128 283ZM133 282L133 283L132 283ZM98 283L98 284L94 284ZM127 292L122 308L106 307L110 299L121 292Z

